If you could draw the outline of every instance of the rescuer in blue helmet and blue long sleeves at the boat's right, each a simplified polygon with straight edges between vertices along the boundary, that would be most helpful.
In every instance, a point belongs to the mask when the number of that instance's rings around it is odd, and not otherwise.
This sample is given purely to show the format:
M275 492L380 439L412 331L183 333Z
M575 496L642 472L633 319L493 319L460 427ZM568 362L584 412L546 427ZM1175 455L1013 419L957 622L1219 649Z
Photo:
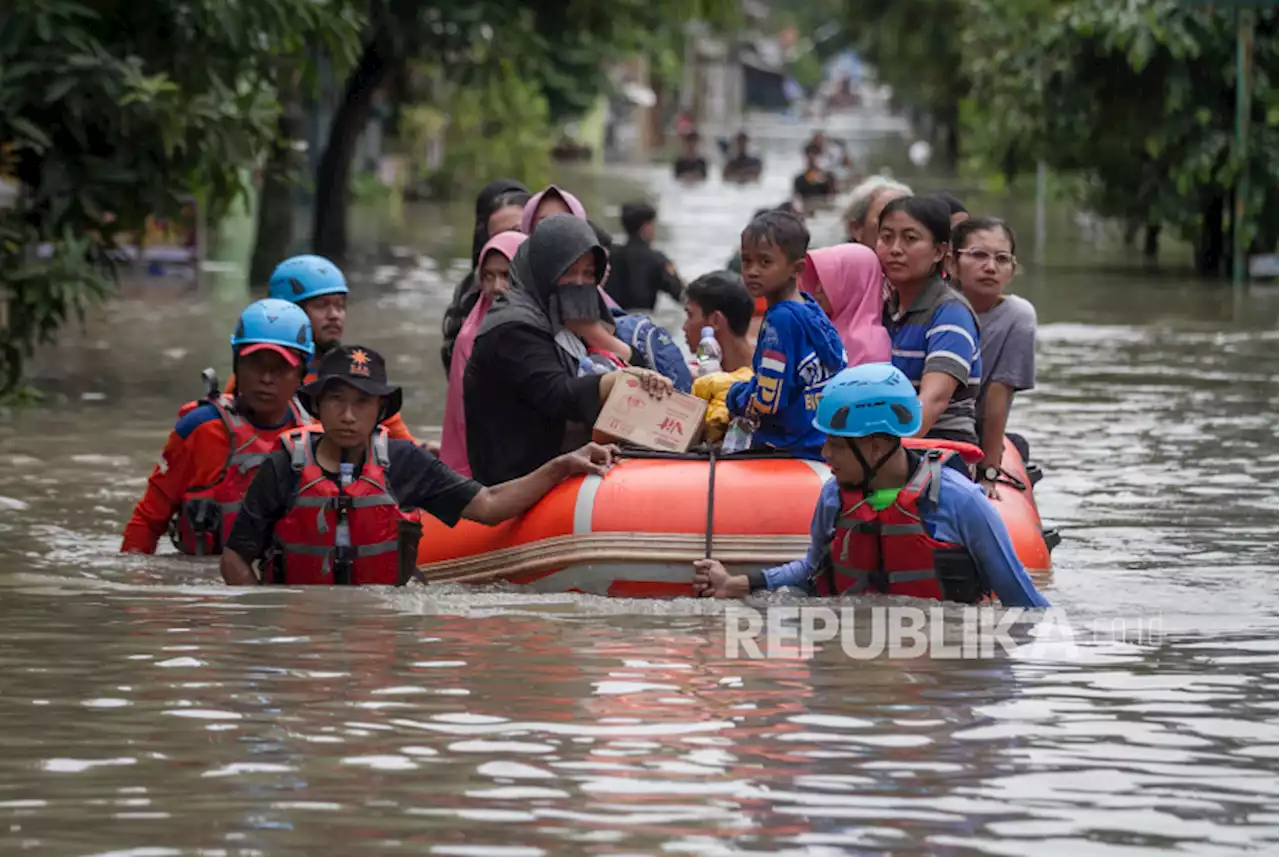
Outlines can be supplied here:
M818 498L804 559L728 574L694 563L694 591L740 597L804 586L819 595L882 592L1046 608L1009 531L956 453L902 446L920 428L911 382L890 363L863 363L827 382L813 425L827 435L832 478Z

